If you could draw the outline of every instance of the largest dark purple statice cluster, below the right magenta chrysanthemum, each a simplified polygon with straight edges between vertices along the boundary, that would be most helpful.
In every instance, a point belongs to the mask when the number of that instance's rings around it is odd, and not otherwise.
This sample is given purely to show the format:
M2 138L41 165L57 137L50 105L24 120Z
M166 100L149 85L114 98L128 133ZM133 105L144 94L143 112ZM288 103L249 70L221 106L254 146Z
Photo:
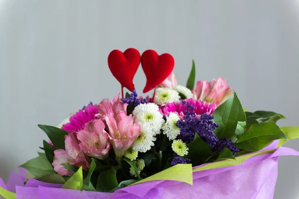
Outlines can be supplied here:
M183 116L184 120L176 122L176 126L180 128L180 139L186 143L190 143L194 139L194 134L197 133L210 148L214 148L218 142L218 138L213 130L219 126L212 121L214 116L203 113L200 117L196 117L193 111L194 106L186 101L182 101L182 103L186 107L186 115Z

